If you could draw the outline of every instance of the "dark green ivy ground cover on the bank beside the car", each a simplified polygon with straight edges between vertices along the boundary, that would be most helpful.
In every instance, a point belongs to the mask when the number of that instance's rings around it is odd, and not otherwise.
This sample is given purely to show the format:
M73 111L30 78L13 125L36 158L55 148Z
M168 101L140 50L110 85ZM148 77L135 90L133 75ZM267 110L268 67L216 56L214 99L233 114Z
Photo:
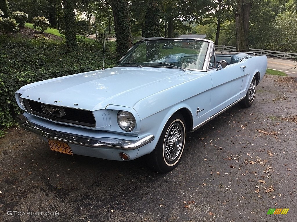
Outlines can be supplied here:
M105 47L105 67L112 67L115 55ZM15 91L28 83L102 68L103 47L81 44L67 52L64 42L0 36L0 136L15 124L21 110Z

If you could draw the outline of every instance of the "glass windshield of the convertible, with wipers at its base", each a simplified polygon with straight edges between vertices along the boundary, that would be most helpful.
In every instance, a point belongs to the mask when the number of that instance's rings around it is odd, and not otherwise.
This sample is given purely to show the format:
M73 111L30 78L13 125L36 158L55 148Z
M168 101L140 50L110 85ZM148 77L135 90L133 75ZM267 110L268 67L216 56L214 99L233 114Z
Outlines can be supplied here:
M153 39L137 42L116 66L153 66L202 70L208 42L195 39Z

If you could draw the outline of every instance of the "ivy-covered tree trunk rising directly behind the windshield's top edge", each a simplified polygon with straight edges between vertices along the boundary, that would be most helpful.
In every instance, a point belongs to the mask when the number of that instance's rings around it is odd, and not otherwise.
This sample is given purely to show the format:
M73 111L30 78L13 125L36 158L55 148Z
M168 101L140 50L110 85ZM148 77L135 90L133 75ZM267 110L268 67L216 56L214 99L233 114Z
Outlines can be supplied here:
M159 0L149 0L143 37L160 37Z

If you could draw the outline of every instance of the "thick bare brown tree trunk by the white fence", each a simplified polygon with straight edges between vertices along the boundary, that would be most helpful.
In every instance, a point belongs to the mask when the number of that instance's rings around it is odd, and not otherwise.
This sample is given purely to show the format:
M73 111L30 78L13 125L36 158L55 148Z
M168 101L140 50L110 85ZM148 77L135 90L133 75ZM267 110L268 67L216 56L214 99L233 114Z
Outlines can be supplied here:
M236 23L236 50L238 52L249 52L249 15L252 0L237 0L235 11Z

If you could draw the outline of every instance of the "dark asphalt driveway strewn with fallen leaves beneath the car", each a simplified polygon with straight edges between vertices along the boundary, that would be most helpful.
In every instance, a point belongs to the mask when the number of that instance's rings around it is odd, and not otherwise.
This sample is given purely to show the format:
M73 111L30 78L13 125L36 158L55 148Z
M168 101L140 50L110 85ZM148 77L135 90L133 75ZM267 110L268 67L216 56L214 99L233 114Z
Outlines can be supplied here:
M167 174L142 158L55 153L13 128L0 139L0 221L295 221L296 89L294 77L266 75L252 107L235 105L192 133Z

